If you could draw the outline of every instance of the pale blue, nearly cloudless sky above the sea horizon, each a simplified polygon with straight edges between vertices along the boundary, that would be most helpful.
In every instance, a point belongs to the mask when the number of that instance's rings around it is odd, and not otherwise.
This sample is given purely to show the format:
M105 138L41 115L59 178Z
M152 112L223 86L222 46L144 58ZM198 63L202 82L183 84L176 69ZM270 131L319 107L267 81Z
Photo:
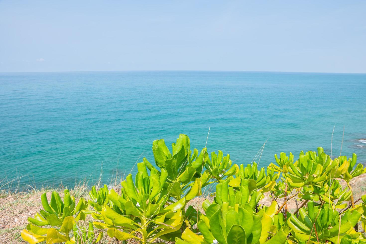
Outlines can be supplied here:
M0 0L0 72L366 73L366 1Z

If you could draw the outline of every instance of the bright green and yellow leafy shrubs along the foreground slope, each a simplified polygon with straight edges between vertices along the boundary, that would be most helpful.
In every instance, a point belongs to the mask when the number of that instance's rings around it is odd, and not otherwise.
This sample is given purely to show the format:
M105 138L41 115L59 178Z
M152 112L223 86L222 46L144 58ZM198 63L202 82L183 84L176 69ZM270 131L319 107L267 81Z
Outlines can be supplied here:
M222 151L190 150L190 140L179 135L172 151L163 139L153 142L155 164L146 158L138 173L122 181L118 193L93 187L90 200L64 199L53 192L42 195L43 209L22 231L29 243L97 243L107 233L120 241L141 243L175 241L178 244L305 244L366 243L358 229L366 225L366 195L354 199L350 181L366 172L356 155L330 158L317 152L275 155L275 163L258 169L233 164ZM343 188L341 181L346 187ZM202 208L190 200L203 189L215 189ZM259 204L265 195L269 206ZM288 200L296 210L287 210ZM85 228L79 224L90 215ZM70 235L72 237L70 237Z

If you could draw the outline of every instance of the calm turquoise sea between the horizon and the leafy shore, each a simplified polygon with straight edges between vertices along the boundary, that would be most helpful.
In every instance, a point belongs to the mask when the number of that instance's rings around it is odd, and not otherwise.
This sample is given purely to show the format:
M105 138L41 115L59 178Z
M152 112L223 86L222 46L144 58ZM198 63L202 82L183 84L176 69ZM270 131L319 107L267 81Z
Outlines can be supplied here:
M0 179L72 186L129 173L179 133L260 165L324 147L366 161L366 74L55 72L0 74ZM255 161L259 161L259 154Z

